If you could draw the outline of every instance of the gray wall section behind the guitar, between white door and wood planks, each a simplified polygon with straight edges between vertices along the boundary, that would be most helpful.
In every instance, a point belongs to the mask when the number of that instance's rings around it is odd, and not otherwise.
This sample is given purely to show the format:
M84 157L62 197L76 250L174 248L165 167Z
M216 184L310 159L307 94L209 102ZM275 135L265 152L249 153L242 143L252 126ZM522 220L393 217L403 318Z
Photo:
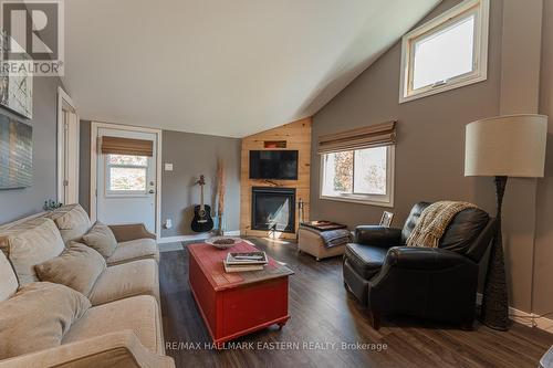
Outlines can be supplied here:
M192 206L199 203L199 187L195 181L206 176L206 204L215 211L217 203L217 159L223 158L227 171L226 230L240 229L240 147L241 140L191 133L163 133L163 162L173 164L173 171L161 175L161 223L173 220L173 229L163 229L163 236L192 234Z

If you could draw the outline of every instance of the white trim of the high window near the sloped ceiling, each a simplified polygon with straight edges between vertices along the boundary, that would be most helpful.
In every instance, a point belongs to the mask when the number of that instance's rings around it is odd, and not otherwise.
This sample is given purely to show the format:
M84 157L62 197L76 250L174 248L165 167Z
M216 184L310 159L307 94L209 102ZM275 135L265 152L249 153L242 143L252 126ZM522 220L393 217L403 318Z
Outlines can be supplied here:
M476 10L474 10L476 8ZM444 83L426 86L417 91L410 91L409 85L413 77L410 75L410 65L413 61L411 45L414 41L427 33L439 32L450 25L452 19L474 10L476 32L474 32L474 71L468 74L459 75ZM441 15L416 28L401 39L401 70L399 81L399 103L406 103L417 98L427 97L441 92L459 88L469 84L486 81L488 78L488 34L490 20L489 0L466 0L458 6L449 9Z

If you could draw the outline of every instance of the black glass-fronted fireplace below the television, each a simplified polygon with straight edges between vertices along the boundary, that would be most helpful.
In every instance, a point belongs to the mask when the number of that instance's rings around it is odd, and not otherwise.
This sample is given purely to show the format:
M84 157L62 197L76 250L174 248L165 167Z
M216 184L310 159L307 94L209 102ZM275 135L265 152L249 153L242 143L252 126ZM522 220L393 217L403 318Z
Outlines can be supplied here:
M295 189L253 187L251 229L295 232Z

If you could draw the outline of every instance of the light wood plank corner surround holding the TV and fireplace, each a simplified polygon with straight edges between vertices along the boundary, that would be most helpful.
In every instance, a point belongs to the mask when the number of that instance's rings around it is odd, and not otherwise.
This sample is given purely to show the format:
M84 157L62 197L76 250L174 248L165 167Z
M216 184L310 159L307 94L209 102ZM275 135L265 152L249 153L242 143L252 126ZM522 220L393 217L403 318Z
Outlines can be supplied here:
M286 140L285 149L299 151L298 180L250 180L250 150L272 150L264 148L265 140ZM240 174L240 233L251 236L275 236L281 239L295 239L295 234L270 234L268 231L251 230L251 188L252 187L280 187L295 188L296 202L302 199L304 218L310 219L310 176L311 176L311 117L283 126L261 132L242 138L242 165ZM299 225L300 213L295 206L295 229Z

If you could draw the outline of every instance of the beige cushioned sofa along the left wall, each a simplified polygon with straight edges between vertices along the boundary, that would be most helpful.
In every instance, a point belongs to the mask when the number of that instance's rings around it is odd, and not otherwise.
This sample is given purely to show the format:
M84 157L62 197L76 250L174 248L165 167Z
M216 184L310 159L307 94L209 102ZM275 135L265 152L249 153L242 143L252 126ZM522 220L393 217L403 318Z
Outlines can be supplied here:
M0 311L18 290L40 283L36 264L59 256L91 227L79 204L1 227ZM0 361L0 368L174 367L165 356L155 236L140 224L111 228L118 244L88 295L90 308L67 326L59 346L34 351L25 341L31 351Z

